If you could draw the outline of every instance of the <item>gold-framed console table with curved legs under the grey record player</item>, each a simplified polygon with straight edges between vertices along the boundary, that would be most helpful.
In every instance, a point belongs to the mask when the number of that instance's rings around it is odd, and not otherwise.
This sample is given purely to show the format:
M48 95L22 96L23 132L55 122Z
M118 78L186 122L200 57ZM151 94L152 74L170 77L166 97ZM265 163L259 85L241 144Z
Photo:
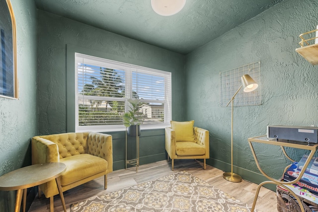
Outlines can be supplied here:
M297 199L297 201L299 203L301 203L301 200L299 199L299 197L292 190L290 190L288 187L286 187L285 185L294 184L294 183L296 183L297 181L299 181L301 179L301 177L303 176L308 164L310 163L312 157L314 156L316 150L318 149L318 143L305 143L305 142L297 142L297 141L277 141L276 139L267 139L266 136L248 138L247 141L248 141L249 147L250 147L250 149L252 151L252 154L253 154L254 160L256 162L257 168L259 169L259 171L267 179L269 179L269 181L264 181L264 182L262 182L262 183L260 183L258 185L257 190L256 190L256 194L255 194L255 198L254 198L254 202L253 202L253 206L252 206L252 211L254 211L254 209L255 209L255 205L256 205L256 201L257 201L259 190L265 184L276 184L276 185L279 185L279 186L285 188L286 190L288 190ZM304 167L303 167L302 171L300 172L299 176L295 180L293 180L291 182L282 182L281 179L274 179L274 178L268 176L262 170L262 168L259 165L259 161L257 159L257 156L256 156L256 153L254 151L254 148L253 148L253 143L255 143L255 142L256 143L263 143L263 144L280 146L282 151L283 151L283 153L284 153L284 155L292 162L295 162L295 161L290 156L288 156L288 154L285 151L285 147L292 147L292 148L310 150L310 154L309 154L309 156L308 156L308 158L307 158L307 160L306 160L306 162L304 164ZM291 165L288 165L285 168L284 173L290 166ZM305 212L304 207L303 207L302 204L300 204L300 208L301 208L302 212Z

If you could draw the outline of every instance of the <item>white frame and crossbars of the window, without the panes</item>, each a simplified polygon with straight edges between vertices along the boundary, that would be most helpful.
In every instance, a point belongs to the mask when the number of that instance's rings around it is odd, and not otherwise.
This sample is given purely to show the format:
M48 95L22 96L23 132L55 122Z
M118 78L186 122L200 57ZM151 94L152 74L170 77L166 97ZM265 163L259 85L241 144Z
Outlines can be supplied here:
M151 69L147 67L142 66L136 66L133 64L128 63L122 63L118 61L113 61L109 59L99 58L95 56L89 56L86 54L75 52L75 131L76 132L85 132L85 131L93 131L93 132L113 132L113 131L125 131L126 127L123 124L120 125L94 125L94 126L79 126L79 92L78 92L78 63L79 63L79 57L84 58L85 64L93 65L93 66L100 66L104 68L114 69L114 70L121 70L125 71L125 97L119 98L119 97L100 97L103 99L113 100L113 101L123 101L125 102L125 112L128 111L128 99L132 97L133 95L133 83L132 83L132 75L133 72L136 71L138 73L143 74L150 74L154 76L160 76L164 78L164 100L151 100L151 99L143 99L142 101L145 103L164 103L164 121L163 123L157 123L157 124L142 124L141 128L142 130L145 129L162 129L167 126L170 126L171 121L171 111L172 111L172 83L171 83L171 72L168 71L160 71L157 69ZM128 74L127 74L128 73ZM89 98L89 96L85 97ZM99 97L95 97L99 98Z

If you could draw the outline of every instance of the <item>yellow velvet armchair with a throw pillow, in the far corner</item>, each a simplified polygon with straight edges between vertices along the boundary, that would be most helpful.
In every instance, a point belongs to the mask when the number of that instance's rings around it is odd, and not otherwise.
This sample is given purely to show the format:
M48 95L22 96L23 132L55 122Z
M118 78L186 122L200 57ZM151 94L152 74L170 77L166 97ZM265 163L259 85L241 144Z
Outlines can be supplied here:
M174 159L206 159L210 158L209 131L193 127L194 121L171 121L171 127L165 128L165 150L171 158L173 170Z

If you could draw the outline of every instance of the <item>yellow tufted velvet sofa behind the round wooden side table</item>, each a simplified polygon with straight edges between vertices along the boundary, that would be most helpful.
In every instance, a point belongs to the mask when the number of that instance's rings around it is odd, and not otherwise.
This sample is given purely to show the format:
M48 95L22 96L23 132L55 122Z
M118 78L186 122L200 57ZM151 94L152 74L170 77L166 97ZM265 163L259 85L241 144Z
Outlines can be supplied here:
M32 164L61 162L66 171L60 176L62 191L79 186L97 177L104 176L107 188L107 173L113 171L112 136L85 132L36 136L31 140ZM39 186L39 197L43 191L50 198L59 194L55 180Z

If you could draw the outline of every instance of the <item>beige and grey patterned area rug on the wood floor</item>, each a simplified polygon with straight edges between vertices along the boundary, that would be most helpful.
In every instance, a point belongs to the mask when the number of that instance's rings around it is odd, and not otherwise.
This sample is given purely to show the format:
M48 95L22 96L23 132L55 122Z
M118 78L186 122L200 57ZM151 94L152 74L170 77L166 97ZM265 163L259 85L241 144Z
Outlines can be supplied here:
M71 205L71 212L251 212L251 207L182 171Z

